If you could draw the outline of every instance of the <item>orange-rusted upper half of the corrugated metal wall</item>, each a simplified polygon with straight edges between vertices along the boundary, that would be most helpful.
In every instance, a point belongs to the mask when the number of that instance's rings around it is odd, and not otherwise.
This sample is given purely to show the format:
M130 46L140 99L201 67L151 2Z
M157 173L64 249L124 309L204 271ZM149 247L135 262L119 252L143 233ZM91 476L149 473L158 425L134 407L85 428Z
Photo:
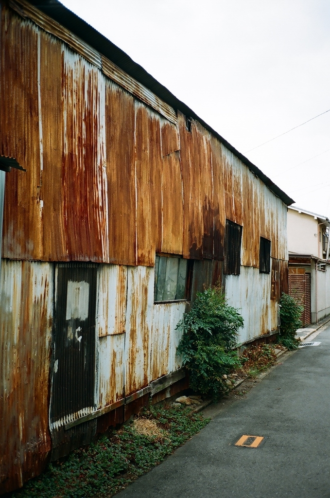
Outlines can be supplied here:
M1 23L0 153L27 169L8 177L3 257L221 260L228 218L244 227L243 265L258 267L260 236L285 259L283 202L209 131L166 120L6 8Z

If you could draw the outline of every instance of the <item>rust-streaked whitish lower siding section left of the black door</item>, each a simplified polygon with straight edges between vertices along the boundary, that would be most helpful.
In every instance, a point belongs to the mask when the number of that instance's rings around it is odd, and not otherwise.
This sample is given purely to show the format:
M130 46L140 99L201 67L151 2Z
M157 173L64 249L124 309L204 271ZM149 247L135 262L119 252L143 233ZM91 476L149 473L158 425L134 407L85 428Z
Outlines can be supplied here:
M51 447L48 384L52 309L52 265L3 259L0 493L40 474Z

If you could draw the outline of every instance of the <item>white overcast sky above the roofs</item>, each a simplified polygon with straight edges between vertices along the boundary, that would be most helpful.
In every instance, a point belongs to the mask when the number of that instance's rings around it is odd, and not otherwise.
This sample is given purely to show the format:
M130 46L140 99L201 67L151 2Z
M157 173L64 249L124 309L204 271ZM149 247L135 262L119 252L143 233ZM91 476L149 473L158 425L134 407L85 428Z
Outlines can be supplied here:
M296 205L330 218L330 112L247 152L330 109L329 0L62 3L187 104Z

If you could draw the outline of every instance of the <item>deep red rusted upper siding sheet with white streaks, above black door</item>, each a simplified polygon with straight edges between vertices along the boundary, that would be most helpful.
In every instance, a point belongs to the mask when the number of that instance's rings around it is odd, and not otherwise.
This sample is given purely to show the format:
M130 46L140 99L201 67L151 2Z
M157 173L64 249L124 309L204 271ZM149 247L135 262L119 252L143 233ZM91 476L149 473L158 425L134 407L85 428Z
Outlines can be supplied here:
M62 84L68 259L108 261L104 77L64 50Z

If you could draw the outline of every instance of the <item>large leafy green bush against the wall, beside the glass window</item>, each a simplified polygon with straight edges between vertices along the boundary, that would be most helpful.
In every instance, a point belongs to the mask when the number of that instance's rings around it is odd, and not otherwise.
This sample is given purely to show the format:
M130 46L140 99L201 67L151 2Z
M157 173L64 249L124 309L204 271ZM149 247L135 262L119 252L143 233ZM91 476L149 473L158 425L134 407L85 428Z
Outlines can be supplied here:
M197 293L191 311L177 325L183 331L177 352L189 370L192 389L214 398L227 390L223 375L240 367L232 348L242 326L242 316L228 306L219 286Z

